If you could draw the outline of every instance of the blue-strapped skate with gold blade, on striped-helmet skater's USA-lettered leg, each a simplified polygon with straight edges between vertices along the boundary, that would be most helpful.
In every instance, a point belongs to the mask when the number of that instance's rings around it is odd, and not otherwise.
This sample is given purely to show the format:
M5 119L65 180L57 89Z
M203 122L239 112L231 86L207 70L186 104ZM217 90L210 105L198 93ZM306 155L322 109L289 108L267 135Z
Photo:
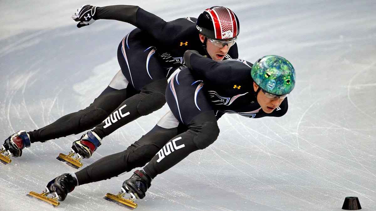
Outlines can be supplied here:
M88 131L81 136L80 140L73 142L71 151L68 155L60 153L56 159L67 163L71 167L79 169L82 167L80 160L82 158L90 158L98 146L101 145L101 141L102 139L100 139L96 133Z

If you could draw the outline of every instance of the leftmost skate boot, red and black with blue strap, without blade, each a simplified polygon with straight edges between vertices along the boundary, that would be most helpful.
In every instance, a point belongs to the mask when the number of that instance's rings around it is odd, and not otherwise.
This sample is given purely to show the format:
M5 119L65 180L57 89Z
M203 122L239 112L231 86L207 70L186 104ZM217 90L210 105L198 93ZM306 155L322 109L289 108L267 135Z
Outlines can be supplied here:
M24 130L18 131L12 136L9 136L3 146L13 157L20 157L22 155L22 149L30 147L30 136Z

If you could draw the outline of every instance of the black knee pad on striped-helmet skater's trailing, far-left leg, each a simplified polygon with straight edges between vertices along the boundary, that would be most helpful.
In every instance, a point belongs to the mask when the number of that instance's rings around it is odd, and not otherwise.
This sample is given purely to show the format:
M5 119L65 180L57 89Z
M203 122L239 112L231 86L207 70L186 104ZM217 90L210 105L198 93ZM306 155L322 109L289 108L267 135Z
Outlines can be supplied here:
M80 127L82 130L89 130L100 124L103 119L106 119L108 113L100 108L89 110L85 112L80 119Z

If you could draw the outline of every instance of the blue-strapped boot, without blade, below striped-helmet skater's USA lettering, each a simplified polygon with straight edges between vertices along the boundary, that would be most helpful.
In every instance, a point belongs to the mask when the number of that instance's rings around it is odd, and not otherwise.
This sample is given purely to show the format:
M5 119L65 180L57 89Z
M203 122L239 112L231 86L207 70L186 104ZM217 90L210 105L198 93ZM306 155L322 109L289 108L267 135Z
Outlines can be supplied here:
M101 141L102 139L96 133L88 131L81 136L80 140L73 142L72 149L83 158L90 158L101 145Z

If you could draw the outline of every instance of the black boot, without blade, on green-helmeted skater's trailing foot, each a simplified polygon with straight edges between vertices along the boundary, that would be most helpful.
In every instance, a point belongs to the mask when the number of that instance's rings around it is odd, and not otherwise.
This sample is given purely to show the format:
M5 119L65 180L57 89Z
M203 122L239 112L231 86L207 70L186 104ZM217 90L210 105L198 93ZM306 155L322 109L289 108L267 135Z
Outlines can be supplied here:
M69 173L64 173L55 179L52 179L47 184L47 189L50 193L56 192L59 196L59 201L64 201L68 193L74 190L77 185L77 179Z

